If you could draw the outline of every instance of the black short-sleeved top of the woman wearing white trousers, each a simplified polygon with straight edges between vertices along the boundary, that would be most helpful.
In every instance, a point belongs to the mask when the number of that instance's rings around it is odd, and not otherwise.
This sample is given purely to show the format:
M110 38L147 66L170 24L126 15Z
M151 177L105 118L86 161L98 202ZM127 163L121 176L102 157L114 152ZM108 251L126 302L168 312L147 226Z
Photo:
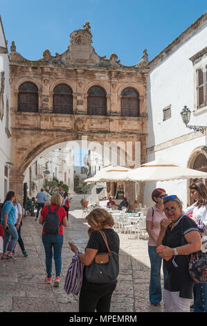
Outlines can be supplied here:
M163 238L163 246L170 248L177 248L187 244L184 235L192 230L199 232L197 225L192 218L188 216L181 216L179 220L174 223L174 228L171 231L171 225L165 232ZM183 235L182 235L183 234ZM179 291L181 298L192 299L193 280L188 271L190 255L177 255L172 259L164 261L164 266L168 271L168 277L164 288L168 291Z

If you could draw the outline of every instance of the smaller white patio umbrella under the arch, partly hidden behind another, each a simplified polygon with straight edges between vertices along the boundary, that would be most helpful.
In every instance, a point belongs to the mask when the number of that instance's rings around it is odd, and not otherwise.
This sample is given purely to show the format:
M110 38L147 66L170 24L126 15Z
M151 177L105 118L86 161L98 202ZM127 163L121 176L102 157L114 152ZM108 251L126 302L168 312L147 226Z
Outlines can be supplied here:
M105 166L103 169L98 171L92 178L85 179L84 182L96 183L96 182L116 182L125 181L125 173L132 169L126 168L125 166Z

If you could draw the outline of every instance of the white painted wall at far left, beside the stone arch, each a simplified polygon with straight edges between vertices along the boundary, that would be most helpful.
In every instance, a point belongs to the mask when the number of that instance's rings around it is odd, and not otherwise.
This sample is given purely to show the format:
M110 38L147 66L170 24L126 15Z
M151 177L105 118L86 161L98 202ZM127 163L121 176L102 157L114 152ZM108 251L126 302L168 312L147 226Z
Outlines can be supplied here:
M3 30L0 24L0 46L6 47L6 42L3 37ZM5 87L4 87L4 110L3 110L3 119L0 119L0 202L3 202L5 199L4 191L4 166L6 162L10 161L10 138L6 135L6 101L8 98L9 108L10 108L10 87L9 87L9 61L8 54L0 53L0 71L5 72ZM1 79L0 79L1 85ZM10 128L10 114L9 114L9 128ZM9 180L8 180L8 189L9 189Z

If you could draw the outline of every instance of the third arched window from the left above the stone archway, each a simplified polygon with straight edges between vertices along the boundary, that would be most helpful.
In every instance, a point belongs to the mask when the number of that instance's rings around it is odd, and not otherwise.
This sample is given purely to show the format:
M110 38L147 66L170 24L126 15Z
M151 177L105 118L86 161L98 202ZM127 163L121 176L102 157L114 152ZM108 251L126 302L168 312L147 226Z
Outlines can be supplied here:
M93 86L88 91L88 114L106 115L107 98L105 90L98 86Z

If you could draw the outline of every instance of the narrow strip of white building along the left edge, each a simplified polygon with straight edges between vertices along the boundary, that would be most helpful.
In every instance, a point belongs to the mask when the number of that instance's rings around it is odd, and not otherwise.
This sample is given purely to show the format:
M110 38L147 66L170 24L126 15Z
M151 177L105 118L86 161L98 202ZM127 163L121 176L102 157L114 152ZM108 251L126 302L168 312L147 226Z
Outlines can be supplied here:
M0 16L0 203L9 190L10 136L9 60Z

